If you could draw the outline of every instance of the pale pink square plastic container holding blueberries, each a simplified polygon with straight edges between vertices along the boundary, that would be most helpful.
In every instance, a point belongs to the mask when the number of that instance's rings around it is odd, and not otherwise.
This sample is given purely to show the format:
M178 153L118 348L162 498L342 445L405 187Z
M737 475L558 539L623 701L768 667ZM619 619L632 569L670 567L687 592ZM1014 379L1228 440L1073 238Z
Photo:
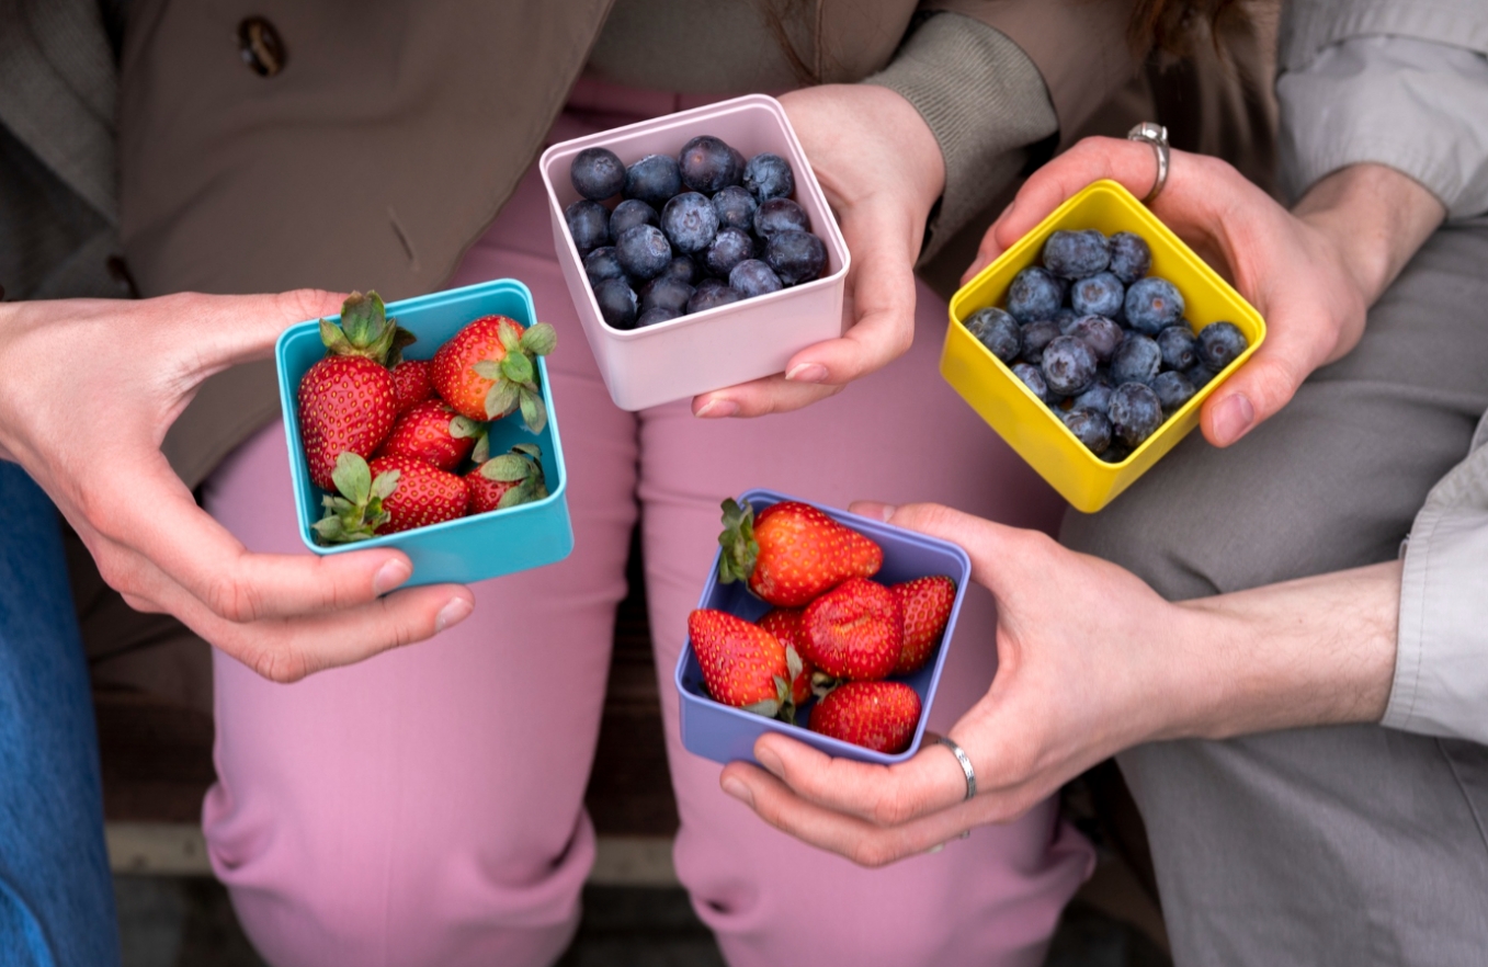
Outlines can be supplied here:
M607 147L631 165L646 155L676 156L683 144L702 134L723 138L745 158L774 152L790 162L796 176L793 198L811 217L811 231L826 244L827 266L821 278L768 296L644 329L612 329L600 317L562 214L579 199L568 177L573 156L586 147ZM801 350L842 335L847 242L775 98L751 94L562 141L543 152L539 167L548 186L558 265L604 385L620 409L644 409L784 372Z

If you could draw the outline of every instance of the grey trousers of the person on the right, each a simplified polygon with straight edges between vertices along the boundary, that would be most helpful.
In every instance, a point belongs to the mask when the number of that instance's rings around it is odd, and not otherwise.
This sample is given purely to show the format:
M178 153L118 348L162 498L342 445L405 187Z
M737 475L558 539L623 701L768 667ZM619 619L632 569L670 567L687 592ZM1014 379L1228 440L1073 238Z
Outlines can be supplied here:
M1223 451L1190 434L1062 540L1170 600L1388 561L1485 409L1478 219L1437 231L1280 415ZM1180 966L1488 964L1488 747L1350 726L1117 760Z

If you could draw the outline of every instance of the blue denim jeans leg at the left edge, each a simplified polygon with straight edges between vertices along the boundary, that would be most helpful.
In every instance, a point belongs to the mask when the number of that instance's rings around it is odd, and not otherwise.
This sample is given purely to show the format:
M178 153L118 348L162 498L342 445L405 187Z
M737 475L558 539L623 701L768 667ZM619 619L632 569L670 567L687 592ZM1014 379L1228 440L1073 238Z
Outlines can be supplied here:
M57 510L0 460L0 967L118 963L98 735Z

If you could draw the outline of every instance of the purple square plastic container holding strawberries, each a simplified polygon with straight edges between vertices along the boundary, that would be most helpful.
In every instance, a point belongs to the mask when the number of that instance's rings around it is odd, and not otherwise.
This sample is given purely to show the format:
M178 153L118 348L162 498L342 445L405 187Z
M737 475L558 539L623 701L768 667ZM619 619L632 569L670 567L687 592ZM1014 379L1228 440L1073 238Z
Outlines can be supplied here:
M754 513L757 515L765 507L777 504L783 500L801 498L787 497L766 489L754 489L744 494L743 500L753 504ZM802 500L801 503L811 501ZM945 632L940 635L940 643L936 646L934 655L912 675L894 675L890 678L891 681L903 681L920 693L920 722L915 725L915 735L909 741L909 748L890 756L885 753L875 753L873 750L862 745L842 742L818 732L811 732L805 727L805 723L811 716L811 708L815 705L815 699L809 699L805 705L796 710L796 722L802 723L799 726L714 702L708 698L708 692L702 686L702 668L698 665L698 656L693 655L692 641L689 640L682 649L682 656L677 659L676 683L677 693L682 696L682 744L690 753L725 763L734 762L735 759L756 762L754 739L765 732L780 732L781 735L789 735L790 738L818 748L829 756L856 759L859 762L875 762L881 765L903 762L905 759L914 756L920 748L920 741L926 730L926 722L930 719L930 707L934 704L936 686L940 683L940 668L945 666L946 649L951 644L951 635L955 634L955 620L961 614L961 600L966 598L966 585L972 580L972 561L958 546L946 540L940 540L939 537L929 537L900 527L893 527L891 524L884 524L882 521L860 518L856 513L848 513L847 510L833 510L832 507L823 507L821 504L811 506L817 507L835 521L851 527L854 531L878 542L878 546L884 549L884 567L878 571L878 574L873 574L873 580L884 585L897 585L900 582L914 580L915 577L929 577L931 574L946 574L955 580L955 603L951 605L951 620L946 622ZM737 614L748 620L759 620L766 611L771 610L771 605L750 594L743 582L735 582L732 585L719 583L717 555L713 558L713 570L708 571L708 583L702 589L702 598L698 600L698 607L728 611L729 614Z

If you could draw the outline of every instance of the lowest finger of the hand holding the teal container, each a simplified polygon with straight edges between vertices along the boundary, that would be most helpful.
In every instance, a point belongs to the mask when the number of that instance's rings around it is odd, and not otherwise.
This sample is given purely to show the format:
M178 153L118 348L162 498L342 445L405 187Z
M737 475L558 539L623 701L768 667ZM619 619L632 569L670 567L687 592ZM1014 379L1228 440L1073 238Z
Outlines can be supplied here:
M168 601L187 628L271 681L298 681L452 628L475 608L460 585L408 588L369 604L296 619L229 622L190 595Z

